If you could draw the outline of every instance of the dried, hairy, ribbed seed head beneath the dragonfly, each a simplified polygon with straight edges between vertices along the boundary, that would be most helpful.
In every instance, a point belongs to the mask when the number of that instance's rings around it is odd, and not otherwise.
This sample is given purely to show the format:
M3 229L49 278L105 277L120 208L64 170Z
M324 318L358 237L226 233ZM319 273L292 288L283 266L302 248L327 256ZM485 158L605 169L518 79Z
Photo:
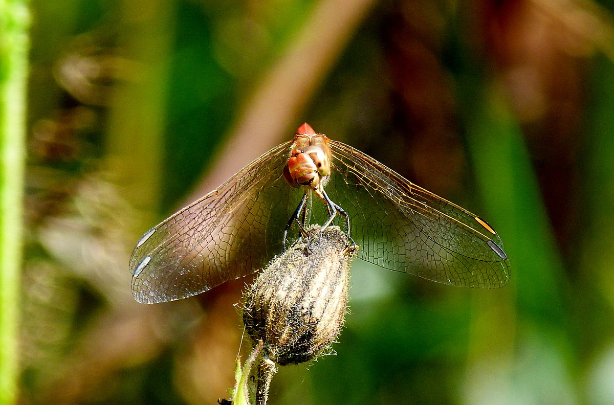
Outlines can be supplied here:
M246 294L243 322L263 358L303 363L337 338L348 303L349 268L358 247L338 226L308 237L276 257Z

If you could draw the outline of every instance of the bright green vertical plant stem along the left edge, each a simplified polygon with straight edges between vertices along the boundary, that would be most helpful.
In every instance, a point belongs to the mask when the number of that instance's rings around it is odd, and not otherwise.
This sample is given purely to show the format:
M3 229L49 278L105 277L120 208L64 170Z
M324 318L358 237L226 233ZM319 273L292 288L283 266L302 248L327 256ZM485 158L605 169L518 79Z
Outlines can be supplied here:
M28 17L25 0L0 0L0 405L18 392Z

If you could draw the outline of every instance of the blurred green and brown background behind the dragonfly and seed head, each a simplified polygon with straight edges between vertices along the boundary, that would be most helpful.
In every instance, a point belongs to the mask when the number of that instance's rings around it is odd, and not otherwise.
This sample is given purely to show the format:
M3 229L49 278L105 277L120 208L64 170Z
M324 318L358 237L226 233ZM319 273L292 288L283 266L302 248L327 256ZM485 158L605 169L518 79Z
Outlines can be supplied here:
M613 9L31 1L20 403L228 398L249 280L143 305L128 258L306 121L488 218L512 275L356 260L336 355L270 404L614 404Z

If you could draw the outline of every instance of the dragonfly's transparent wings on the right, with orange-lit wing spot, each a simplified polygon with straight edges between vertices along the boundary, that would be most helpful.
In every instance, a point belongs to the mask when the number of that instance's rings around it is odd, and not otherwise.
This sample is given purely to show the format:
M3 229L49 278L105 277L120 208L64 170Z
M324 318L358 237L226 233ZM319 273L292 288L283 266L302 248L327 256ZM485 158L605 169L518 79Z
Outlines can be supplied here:
M507 284L507 256L486 222L349 145L330 147L335 167L325 190L348 212L360 258L444 284Z

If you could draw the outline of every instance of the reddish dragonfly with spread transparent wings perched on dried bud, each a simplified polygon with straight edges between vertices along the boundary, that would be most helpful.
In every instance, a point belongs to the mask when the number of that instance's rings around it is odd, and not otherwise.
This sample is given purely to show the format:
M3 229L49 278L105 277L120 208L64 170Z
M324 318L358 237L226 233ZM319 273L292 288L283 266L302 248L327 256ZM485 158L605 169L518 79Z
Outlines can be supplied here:
M385 269L473 288L510 279L502 241L485 220L305 123L139 239L130 258L134 298L174 301L252 274L314 223L341 226L359 258Z

